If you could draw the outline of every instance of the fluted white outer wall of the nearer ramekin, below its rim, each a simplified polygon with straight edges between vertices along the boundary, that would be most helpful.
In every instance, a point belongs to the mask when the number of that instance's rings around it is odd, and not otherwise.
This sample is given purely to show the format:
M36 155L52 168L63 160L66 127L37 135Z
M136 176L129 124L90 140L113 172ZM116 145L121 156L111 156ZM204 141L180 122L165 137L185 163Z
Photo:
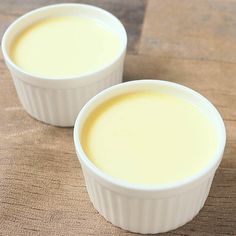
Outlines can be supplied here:
M89 197L104 218L123 229L143 234L166 232L190 221L203 207L214 173L193 188L168 197L121 194L96 181L83 168Z

